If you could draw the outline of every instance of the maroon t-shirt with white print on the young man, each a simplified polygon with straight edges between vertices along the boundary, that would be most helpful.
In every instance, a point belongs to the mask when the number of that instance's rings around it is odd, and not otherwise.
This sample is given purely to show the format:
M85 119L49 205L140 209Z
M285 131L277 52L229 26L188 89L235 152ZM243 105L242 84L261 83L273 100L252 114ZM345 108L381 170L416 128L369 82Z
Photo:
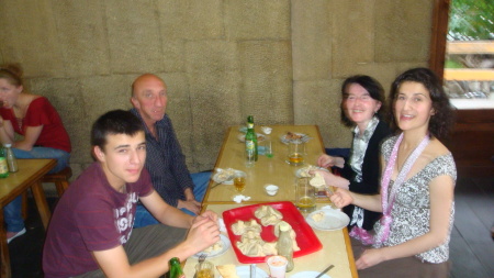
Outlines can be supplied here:
M59 200L43 249L45 277L71 277L99 268L91 255L124 245L131 237L136 203L153 192L149 174L114 190L99 163L74 181Z

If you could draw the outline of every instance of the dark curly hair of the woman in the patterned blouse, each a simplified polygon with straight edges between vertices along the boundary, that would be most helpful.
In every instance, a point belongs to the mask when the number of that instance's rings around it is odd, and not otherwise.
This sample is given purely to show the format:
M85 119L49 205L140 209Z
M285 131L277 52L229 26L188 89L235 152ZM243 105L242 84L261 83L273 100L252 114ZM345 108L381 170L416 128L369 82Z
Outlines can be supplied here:
M429 91L435 114L430 116L428 131L435 137L445 138L454 122L454 112L439 78L428 68L408 69L393 81L389 98L391 127L395 131L400 130L394 118L394 103L400 86L406 81L422 84Z

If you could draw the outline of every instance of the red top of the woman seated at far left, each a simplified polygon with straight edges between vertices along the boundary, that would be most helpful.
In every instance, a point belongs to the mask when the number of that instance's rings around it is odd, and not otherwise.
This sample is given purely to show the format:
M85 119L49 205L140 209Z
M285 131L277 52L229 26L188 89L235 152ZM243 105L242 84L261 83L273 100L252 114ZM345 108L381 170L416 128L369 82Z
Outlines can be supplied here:
M0 108L0 114L3 120L10 121L14 132L21 135L25 135L27 126L43 125L40 137L37 137L34 145L58 148L70 153L71 147L68 133L61 123L58 112L46 98L40 97L31 101L22 121L18 121L12 109Z

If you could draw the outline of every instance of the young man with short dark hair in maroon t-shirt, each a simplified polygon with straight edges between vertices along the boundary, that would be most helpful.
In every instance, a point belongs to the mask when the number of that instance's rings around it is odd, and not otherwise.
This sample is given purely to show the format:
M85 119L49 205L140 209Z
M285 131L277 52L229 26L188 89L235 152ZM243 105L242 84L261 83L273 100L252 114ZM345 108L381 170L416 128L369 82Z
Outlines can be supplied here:
M170 258L184 260L220 240L215 213L193 218L153 189L143 127L123 110L94 123L97 162L57 203L43 249L45 277L158 277ZM132 229L138 200L162 225Z

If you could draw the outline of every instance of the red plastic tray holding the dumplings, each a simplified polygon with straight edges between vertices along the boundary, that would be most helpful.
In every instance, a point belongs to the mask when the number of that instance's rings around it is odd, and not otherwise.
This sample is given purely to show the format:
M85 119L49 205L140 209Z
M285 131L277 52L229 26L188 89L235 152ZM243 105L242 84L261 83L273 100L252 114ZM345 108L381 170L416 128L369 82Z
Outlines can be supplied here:
M292 202L268 202L246 205L223 212L223 220L225 222L226 231L228 232L232 248L237 255L238 262L243 264L265 263L266 257L249 257L237 248L236 242L240 241L239 235L232 232L232 225L238 220L248 221L255 219L259 224L260 220L254 215L254 212L261 205L271 205L283 214L283 221L287 221L295 231L296 243L300 251L293 253L293 257L301 257L314 253L323 248L319 238L314 234L311 226L305 222L305 219L295 208ZM261 225L261 224L260 224ZM262 225L261 225L262 226ZM273 233L273 225L262 226L261 237L265 242L273 242L277 240Z

